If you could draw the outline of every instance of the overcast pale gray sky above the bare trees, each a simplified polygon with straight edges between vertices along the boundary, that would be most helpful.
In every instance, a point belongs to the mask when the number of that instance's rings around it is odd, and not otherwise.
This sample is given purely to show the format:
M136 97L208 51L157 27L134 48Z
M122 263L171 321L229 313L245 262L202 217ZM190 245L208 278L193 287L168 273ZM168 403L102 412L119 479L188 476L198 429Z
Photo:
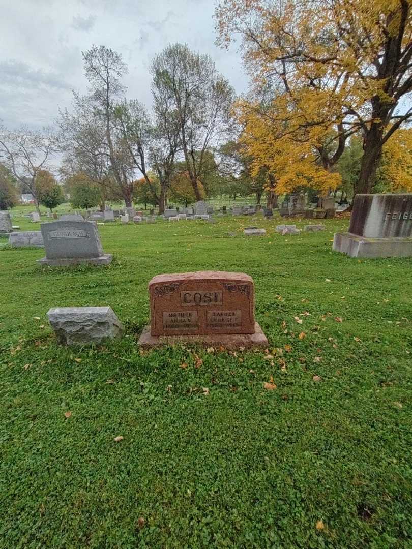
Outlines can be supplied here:
M0 120L52 124L74 89L86 93L81 52L105 44L129 66L127 97L151 104L148 66L169 43L209 53L237 93L247 76L235 48L214 45L214 0L0 0Z

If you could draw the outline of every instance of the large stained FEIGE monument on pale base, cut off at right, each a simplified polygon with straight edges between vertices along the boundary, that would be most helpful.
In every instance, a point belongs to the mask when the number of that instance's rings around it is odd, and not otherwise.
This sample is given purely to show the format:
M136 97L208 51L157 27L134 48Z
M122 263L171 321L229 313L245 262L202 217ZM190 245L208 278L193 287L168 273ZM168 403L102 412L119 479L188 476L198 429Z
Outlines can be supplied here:
M412 257L412 194L357 194L349 232L334 251L350 257Z

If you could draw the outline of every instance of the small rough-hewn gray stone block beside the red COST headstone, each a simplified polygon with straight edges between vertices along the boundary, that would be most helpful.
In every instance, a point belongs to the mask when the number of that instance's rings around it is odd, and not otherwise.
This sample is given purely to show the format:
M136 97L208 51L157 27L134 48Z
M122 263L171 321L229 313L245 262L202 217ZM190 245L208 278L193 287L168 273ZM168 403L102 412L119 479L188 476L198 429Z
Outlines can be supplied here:
M47 313L59 343L85 345L119 338L123 326L111 307L56 307Z

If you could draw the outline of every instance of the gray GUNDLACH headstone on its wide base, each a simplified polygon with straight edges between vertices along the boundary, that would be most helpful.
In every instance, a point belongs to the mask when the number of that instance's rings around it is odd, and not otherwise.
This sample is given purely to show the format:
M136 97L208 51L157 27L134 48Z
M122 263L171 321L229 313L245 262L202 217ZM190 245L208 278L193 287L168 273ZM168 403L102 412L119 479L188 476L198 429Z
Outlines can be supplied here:
M90 221L42 223L41 232L46 257L38 260L40 265L108 265L113 259L112 254L103 253L97 227Z

